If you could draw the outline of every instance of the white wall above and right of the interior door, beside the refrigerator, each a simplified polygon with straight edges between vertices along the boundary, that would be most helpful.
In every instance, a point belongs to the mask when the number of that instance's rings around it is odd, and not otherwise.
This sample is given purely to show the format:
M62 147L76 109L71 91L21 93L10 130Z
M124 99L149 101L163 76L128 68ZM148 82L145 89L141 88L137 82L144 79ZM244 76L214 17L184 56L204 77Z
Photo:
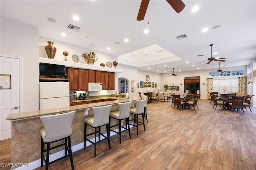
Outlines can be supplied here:
M22 57L20 111L38 110L38 28L1 16L0 31L1 54Z

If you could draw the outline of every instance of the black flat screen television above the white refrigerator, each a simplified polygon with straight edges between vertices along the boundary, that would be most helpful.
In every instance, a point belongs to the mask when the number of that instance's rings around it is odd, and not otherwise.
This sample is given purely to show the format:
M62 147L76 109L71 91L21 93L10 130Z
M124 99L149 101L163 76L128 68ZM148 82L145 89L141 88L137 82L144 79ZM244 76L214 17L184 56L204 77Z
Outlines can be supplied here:
M66 78L65 65L39 63L40 77Z

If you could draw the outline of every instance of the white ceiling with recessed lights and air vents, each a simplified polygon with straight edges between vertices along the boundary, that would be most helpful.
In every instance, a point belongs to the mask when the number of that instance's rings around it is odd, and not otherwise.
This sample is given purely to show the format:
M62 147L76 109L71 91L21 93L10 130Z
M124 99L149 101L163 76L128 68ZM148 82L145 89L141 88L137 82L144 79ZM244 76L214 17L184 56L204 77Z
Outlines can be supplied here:
M221 63L222 67L248 65L256 57L255 0L183 0L186 7L179 14L166 0L150 0L149 12L146 12L143 21L137 21L140 2L1 0L0 5L1 16L38 27L39 36L42 37L116 56L156 44L182 59L169 62L172 59L166 58L159 63L158 58L161 56L155 56L158 62L147 62L146 66L138 64L138 69L142 70L164 73L166 70L172 72L172 68L176 72L179 69L190 71L199 67L217 71L218 61L210 64L206 64L207 61L198 63L210 57L210 44L213 44L212 53L218 52L217 55L212 54L212 57L227 58L226 62ZM191 9L195 5L200 9L193 13ZM74 15L80 20L74 21ZM49 22L47 18L54 18L57 22ZM69 24L80 27L80 31L67 30ZM216 25L221 27L212 29ZM201 32L203 28L208 28L208 31ZM148 29L149 33L144 34L144 29ZM63 32L66 37L60 35ZM177 40L176 37L182 34L186 34L188 38ZM125 38L129 42L124 42ZM116 42L120 44L117 45ZM90 43L95 46L90 46ZM111 49L108 50L107 47ZM196 57L201 54L204 56Z

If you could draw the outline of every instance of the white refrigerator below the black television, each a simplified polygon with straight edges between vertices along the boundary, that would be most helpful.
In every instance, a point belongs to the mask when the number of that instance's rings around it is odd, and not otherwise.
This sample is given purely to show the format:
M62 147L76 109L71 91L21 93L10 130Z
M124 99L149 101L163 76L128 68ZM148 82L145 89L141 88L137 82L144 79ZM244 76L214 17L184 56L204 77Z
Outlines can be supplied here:
M69 82L39 82L40 110L67 107L69 98Z

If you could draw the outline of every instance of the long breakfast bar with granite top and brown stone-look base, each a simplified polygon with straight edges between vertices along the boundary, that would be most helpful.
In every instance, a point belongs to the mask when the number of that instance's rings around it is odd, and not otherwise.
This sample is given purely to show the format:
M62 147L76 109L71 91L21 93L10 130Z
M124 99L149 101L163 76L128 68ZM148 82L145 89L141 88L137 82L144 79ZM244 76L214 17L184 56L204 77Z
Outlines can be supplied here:
M40 129L43 128L41 116L76 111L71 135L72 152L75 152L84 146L84 118L93 116L92 107L112 105L112 112L118 111L118 103L132 101L131 107L134 107L135 101L139 100L137 95L130 95L130 99L120 96L99 97L97 99L112 100L8 115L7 120L12 121L12 164L28 164L30 168L40 166ZM111 124L115 125L116 122L113 121ZM106 133L106 129L103 128L102 133ZM56 148L50 154L58 154L62 150L64 148Z

